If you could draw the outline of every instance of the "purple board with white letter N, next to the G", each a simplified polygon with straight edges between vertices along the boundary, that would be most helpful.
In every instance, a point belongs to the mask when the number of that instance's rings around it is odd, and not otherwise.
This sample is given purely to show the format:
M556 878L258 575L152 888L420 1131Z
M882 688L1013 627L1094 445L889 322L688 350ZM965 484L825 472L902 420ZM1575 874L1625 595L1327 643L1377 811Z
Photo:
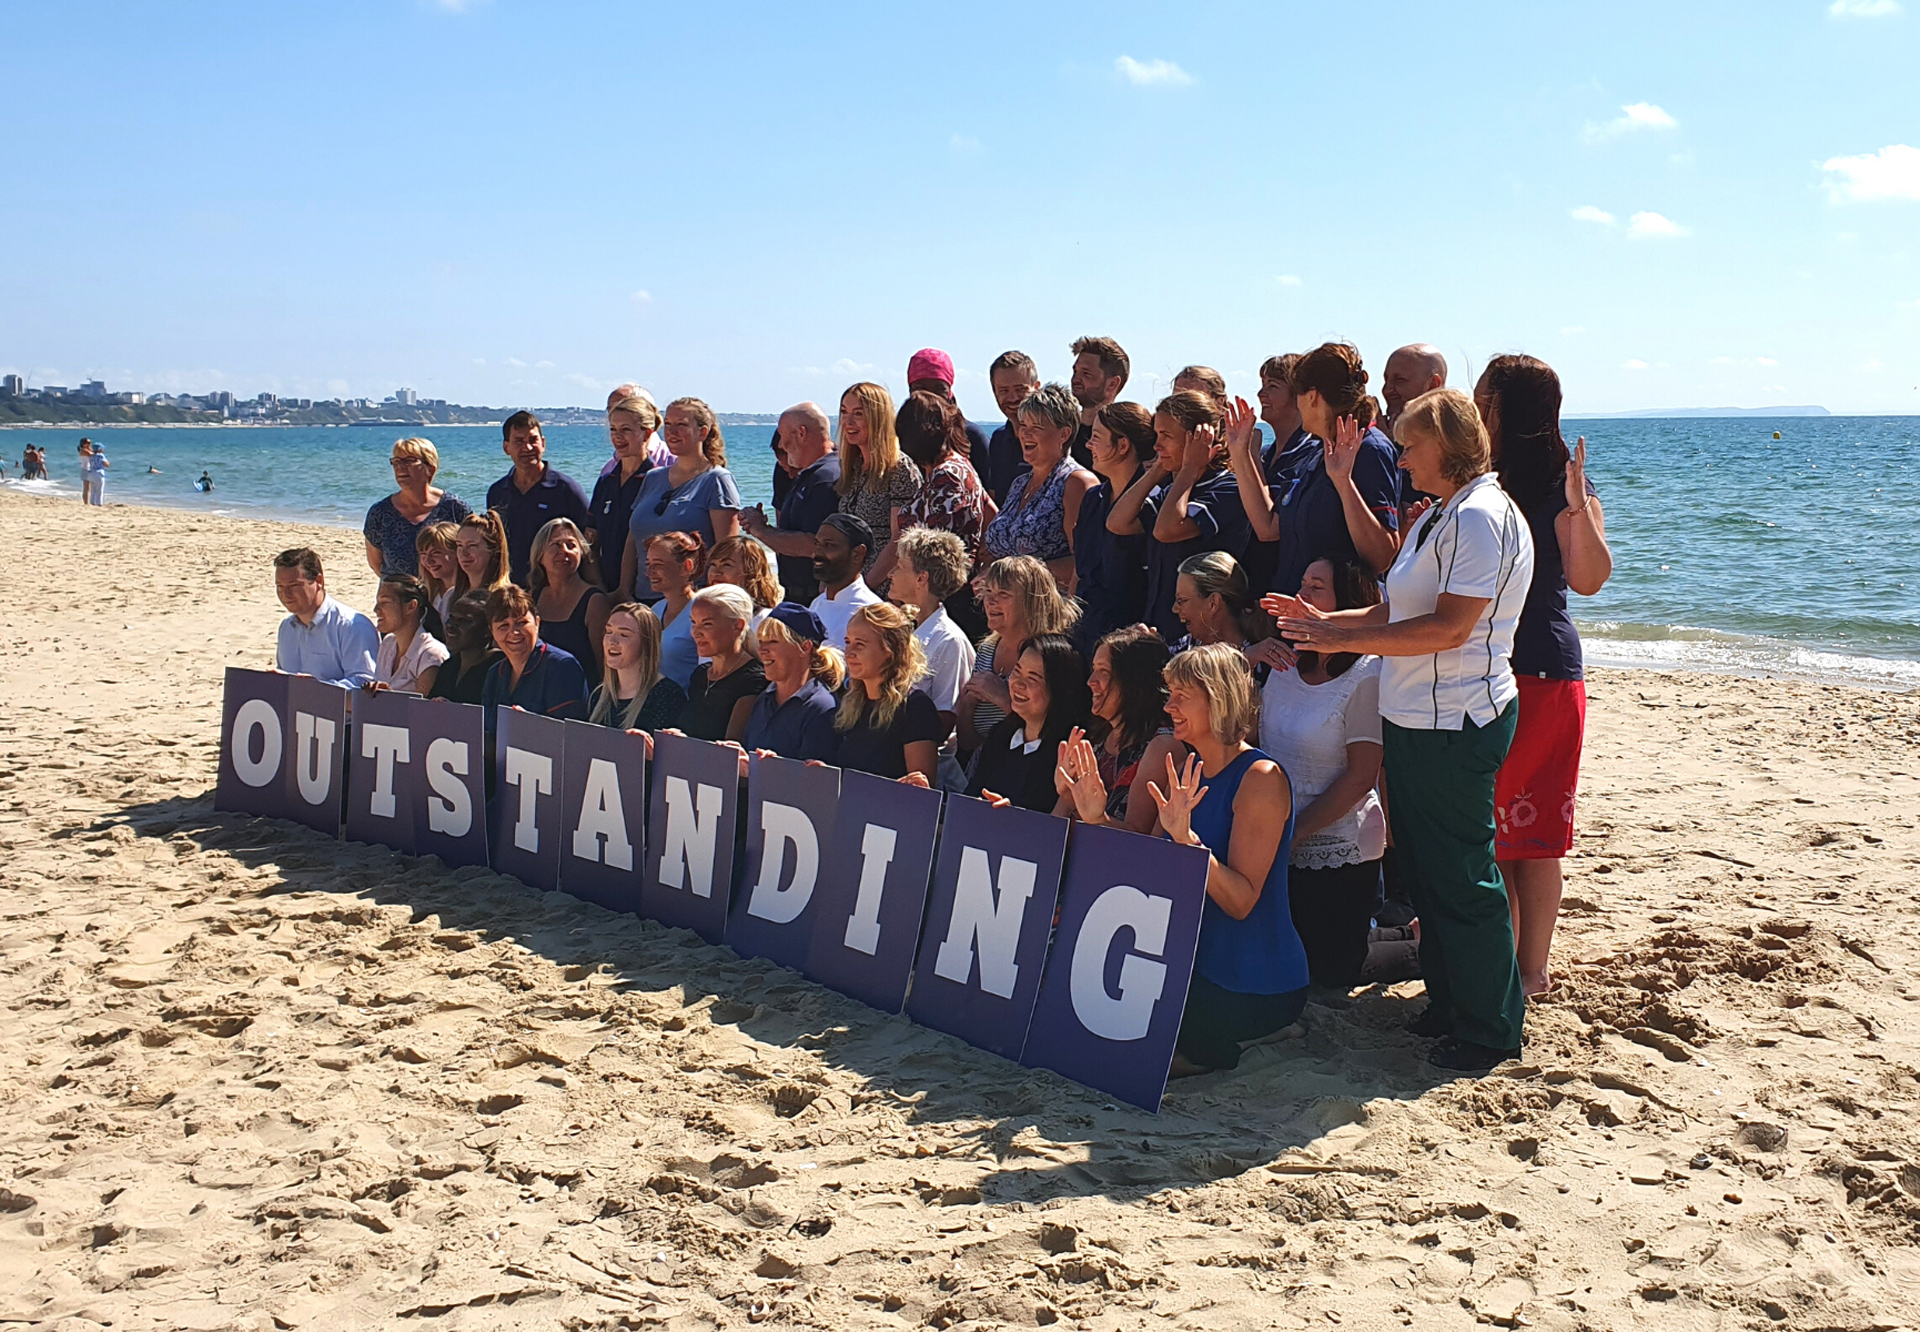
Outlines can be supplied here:
M950 797L906 1015L1018 1059L1054 925L1066 820Z

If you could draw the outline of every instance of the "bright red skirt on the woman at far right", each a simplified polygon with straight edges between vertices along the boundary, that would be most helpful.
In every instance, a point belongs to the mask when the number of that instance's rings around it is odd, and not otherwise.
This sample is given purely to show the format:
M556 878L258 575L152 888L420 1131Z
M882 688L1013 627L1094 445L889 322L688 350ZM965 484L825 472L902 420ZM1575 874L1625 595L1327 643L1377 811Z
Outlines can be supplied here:
M1500 860L1561 860L1572 848L1572 804L1586 737L1586 681L1519 676L1521 720L1494 779Z

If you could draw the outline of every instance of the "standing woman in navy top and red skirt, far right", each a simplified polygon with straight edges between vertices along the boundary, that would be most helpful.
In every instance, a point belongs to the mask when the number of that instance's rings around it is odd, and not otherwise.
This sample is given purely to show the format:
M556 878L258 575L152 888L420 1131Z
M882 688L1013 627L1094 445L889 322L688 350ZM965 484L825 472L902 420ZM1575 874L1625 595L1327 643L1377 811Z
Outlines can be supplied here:
M1501 488L1534 537L1534 578L1513 633L1521 716L1494 787L1494 837L1513 908L1521 990L1551 985L1548 954L1561 902L1561 860L1572 848L1580 745L1586 737L1586 664L1567 593L1592 597L1613 574L1599 491L1586 480L1586 440L1561 438L1561 384L1546 361L1501 355L1486 363L1473 399L1492 440Z

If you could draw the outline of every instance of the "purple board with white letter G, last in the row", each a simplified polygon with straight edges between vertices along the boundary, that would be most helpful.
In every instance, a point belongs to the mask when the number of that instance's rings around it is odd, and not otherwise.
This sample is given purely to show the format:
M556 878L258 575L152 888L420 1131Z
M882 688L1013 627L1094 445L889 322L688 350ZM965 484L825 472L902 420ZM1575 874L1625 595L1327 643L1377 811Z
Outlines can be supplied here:
M1187 1008L1208 854L1112 827L1073 827L1060 929L1021 1063L1160 1111Z

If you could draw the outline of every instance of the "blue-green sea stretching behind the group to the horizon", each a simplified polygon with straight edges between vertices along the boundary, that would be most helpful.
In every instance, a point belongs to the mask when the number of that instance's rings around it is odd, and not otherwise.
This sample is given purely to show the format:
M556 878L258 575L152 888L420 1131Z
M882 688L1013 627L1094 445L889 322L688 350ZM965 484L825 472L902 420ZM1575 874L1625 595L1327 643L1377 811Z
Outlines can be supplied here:
M88 426L0 430L6 484L79 495L83 436L108 449L108 503L359 528L392 489L396 430ZM432 426L436 484L470 505L507 472L497 426ZM1576 597L1588 660L1920 687L1920 416L1588 418L1613 578ZM772 495L772 426L726 430L747 503ZM52 478L19 480L46 447ZM599 426L547 430L547 457L591 489ZM211 493L194 489L202 472Z

